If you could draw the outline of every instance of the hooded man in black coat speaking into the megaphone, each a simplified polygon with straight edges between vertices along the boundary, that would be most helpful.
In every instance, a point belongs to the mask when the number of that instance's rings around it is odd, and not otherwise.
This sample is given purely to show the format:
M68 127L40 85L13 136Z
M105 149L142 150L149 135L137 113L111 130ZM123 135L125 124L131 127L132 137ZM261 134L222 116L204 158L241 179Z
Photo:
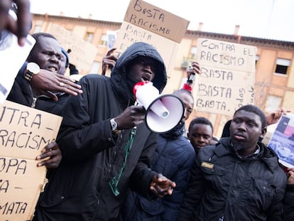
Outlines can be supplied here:
M34 220L115 220L130 187L149 199L173 193L175 183L148 168L157 135L134 105L133 87L143 80L162 92L167 76L158 51L141 42L121 54L110 78L82 77L82 95L69 97L62 114L62 162Z

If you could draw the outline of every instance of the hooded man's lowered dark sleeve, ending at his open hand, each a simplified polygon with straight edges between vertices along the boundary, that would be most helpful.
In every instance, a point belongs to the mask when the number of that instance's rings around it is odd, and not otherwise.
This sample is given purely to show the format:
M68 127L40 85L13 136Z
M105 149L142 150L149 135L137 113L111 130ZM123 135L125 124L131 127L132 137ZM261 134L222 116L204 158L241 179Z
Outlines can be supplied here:
M156 149L157 134L150 133L146 144L144 145L143 151L141 152L140 158L136 167L131 174L131 189L135 190L136 193L142 195L149 200L154 199L155 195L149 190L153 176L157 173L151 170L152 156Z

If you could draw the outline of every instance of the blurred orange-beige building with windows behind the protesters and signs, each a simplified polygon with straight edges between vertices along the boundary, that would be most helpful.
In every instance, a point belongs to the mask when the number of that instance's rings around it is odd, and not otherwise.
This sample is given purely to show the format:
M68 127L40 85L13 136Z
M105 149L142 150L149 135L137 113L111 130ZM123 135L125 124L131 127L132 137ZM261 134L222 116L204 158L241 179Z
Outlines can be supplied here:
M90 70L82 70L80 74L100 74L102 71L102 58L109 50L107 45L107 31L118 31L121 23L109 21L97 21L91 18L71 18L50 16L48 14L33 14L33 26L31 33L49 32L53 24L61 26L67 31L75 33L85 41L97 47L97 55ZM239 26L235 26L232 34L210 33L202 31L202 23L199 23L197 31L186 31L185 37L180 43L180 48L175 60L175 67L168 80L171 93L182 87L186 80L186 68L192 60L195 60L198 38L210 38L219 41L253 45L256 53L256 82L255 102L264 112L271 112L278 107L285 107L294 112L294 42L276 41L271 39L239 36ZM240 82L241 84L242 82ZM196 85L195 85L196 87ZM218 138L222 134L222 128L232 116L222 114L209 114L194 111L190 120L194 117L207 117L214 124L214 136ZM188 124L187 124L188 125Z

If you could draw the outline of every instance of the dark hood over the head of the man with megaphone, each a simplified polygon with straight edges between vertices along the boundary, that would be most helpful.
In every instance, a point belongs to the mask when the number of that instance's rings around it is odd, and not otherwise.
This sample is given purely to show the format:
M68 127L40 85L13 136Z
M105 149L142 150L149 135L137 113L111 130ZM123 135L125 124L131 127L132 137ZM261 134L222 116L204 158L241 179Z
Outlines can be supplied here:
M116 65L111 70L111 86L124 108L135 102L133 91L129 90L127 84L126 66L138 56L146 56L156 60L157 72L152 82L153 86L156 87L160 93L163 91L167 82L163 58L161 58L156 48L154 48L153 45L143 42L137 42L130 45L129 48L121 54L116 61Z

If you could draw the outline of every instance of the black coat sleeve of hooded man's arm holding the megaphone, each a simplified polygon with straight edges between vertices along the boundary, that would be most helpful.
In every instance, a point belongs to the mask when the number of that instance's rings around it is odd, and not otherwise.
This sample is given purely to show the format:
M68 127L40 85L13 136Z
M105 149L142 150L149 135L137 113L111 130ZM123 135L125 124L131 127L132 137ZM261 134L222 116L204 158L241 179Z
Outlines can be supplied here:
M83 93L77 97L68 97L62 111L63 120L57 143L63 158L86 158L115 145L110 119L99 120L93 117L97 112L105 112L96 106L96 100L99 97L104 99L103 96L107 92L98 95L99 84L95 78L82 78L79 84ZM101 116L100 119L104 119L104 116Z

